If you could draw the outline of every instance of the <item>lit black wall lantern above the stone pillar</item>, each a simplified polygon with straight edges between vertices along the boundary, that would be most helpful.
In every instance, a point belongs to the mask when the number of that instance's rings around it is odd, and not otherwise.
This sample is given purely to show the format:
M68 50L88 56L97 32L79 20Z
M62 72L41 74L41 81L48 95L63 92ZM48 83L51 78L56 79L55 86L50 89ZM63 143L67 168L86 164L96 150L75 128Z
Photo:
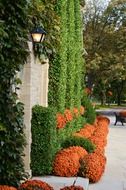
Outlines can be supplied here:
M44 37L46 35L46 32L43 30L43 28L35 28L31 31L31 37L33 43L40 43L44 40Z

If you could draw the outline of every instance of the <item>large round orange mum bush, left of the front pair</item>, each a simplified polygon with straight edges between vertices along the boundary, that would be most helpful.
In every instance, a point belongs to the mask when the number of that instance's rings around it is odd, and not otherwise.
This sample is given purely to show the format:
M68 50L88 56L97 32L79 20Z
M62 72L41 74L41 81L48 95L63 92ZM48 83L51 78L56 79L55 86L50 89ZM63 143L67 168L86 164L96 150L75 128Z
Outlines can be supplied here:
M87 154L87 151L79 146L61 150L54 160L54 173L66 177L76 176L80 167L79 160Z

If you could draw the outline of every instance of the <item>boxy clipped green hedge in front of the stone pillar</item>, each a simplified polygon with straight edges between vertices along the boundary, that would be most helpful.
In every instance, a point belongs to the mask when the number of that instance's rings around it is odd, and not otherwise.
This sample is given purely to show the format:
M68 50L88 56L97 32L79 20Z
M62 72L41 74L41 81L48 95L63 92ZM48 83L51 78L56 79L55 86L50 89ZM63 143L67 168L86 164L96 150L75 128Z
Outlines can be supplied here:
M33 175L52 172L54 155L58 149L56 111L39 105L32 110L31 169Z

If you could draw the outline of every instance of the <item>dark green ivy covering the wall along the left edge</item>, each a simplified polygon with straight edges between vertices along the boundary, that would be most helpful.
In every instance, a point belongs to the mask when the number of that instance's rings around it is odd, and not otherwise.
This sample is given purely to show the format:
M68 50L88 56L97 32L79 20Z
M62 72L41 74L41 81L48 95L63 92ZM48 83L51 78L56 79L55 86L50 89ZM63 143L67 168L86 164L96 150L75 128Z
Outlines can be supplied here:
M23 104L17 96L16 74L27 51L27 1L0 2L0 184L18 186L26 174Z

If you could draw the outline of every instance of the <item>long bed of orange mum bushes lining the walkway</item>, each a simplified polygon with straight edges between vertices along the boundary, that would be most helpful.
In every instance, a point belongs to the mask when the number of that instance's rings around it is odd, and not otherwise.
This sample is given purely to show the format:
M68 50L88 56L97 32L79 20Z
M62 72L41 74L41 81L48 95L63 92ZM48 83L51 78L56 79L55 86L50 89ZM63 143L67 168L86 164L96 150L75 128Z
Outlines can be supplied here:
M108 118L98 116L94 125L86 124L79 132L74 133L74 136L88 138L96 145L96 149L89 154L83 152L81 147L63 149L56 155L54 173L59 176L76 176L79 171L79 175L89 178L90 182L99 181L106 164L104 153L109 123Z

